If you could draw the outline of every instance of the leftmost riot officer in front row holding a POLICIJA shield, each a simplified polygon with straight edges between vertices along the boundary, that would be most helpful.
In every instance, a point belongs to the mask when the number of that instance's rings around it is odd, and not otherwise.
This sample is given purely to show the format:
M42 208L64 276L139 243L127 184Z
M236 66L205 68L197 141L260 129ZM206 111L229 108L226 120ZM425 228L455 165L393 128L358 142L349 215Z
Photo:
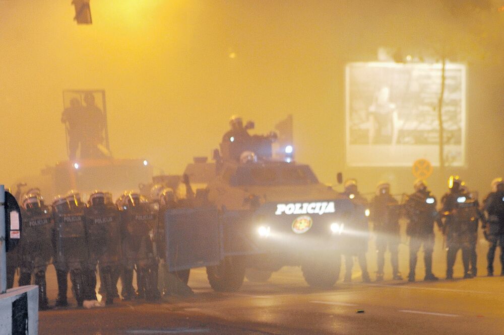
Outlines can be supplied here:
M39 309L49 308L45 271L52 256L51 232L54 226L52 213L39 193L29 193L22 202L23 238L18 245L20 277L19 286L30 285L34 274L38 286Z

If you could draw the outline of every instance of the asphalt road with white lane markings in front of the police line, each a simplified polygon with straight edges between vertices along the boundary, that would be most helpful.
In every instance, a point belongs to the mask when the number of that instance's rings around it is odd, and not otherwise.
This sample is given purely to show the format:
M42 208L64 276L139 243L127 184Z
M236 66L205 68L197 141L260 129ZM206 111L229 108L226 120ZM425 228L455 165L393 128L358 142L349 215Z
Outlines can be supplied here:
M437 236L434 272L442 277L438 282L421 281L423 261L419 255L415 283L392 281L390 265L387 265L386 281L363 284L356 265L352 283L338 282L328 291L309 288L299 268L287 267L274 273L267 283L245 281L238 293L215 293L206 280L205 269L195 269L189 282L195 295L190 298L170 297L156 303L117 302L110 307L89 310L71 307L42 311L39 332L504 334L504 277L485 276L485 253L486 242L480 240L479 277L457 279L463 275L458 260L456 279L444 280L446 253ZM406 244L400 246L400 255L401 269L407 275ZM368 262L374 279L373 252L368 253ZM495 270L500 273L500 265L496 264ZM53 303L56 287L52 267L48 279L49 298Z

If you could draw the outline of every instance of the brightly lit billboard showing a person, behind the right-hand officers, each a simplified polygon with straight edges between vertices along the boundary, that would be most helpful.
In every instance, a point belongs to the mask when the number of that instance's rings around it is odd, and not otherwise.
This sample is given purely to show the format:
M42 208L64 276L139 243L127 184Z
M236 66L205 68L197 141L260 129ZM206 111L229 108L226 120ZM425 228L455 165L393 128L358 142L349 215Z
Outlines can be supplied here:
M464 164L465 66L447 64L445 162ZM440 64L350 63L346 68L346 156L350 166L438 162Z

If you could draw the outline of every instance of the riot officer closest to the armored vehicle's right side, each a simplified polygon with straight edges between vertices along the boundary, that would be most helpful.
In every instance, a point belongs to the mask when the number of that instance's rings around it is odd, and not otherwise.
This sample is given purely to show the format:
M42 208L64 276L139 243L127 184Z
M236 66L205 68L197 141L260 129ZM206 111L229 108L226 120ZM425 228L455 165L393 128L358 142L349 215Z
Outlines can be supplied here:
M348 240L347 250L345 256L345 279L344 282L349 283L352 281L352 267L353 257L357 256L360 270L362 272L362 281L364 283L370 282L369 273L367 272L367 241L368 241L368 222L366 212L368 210L368 203L357 189L357 181L350 179L345 182L345 192L342 193L345 197L349 198L355 207L356 215L352 220L350 229L358 232L354 238Z

